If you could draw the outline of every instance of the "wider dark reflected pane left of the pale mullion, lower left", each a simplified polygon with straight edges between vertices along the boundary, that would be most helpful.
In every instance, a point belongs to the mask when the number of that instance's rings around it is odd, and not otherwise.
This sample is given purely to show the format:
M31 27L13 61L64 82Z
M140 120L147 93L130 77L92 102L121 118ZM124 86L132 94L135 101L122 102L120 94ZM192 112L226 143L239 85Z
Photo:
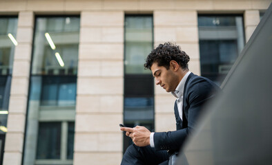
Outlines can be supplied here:
M61 148L61 122L40 122L37 159L59 159Z

